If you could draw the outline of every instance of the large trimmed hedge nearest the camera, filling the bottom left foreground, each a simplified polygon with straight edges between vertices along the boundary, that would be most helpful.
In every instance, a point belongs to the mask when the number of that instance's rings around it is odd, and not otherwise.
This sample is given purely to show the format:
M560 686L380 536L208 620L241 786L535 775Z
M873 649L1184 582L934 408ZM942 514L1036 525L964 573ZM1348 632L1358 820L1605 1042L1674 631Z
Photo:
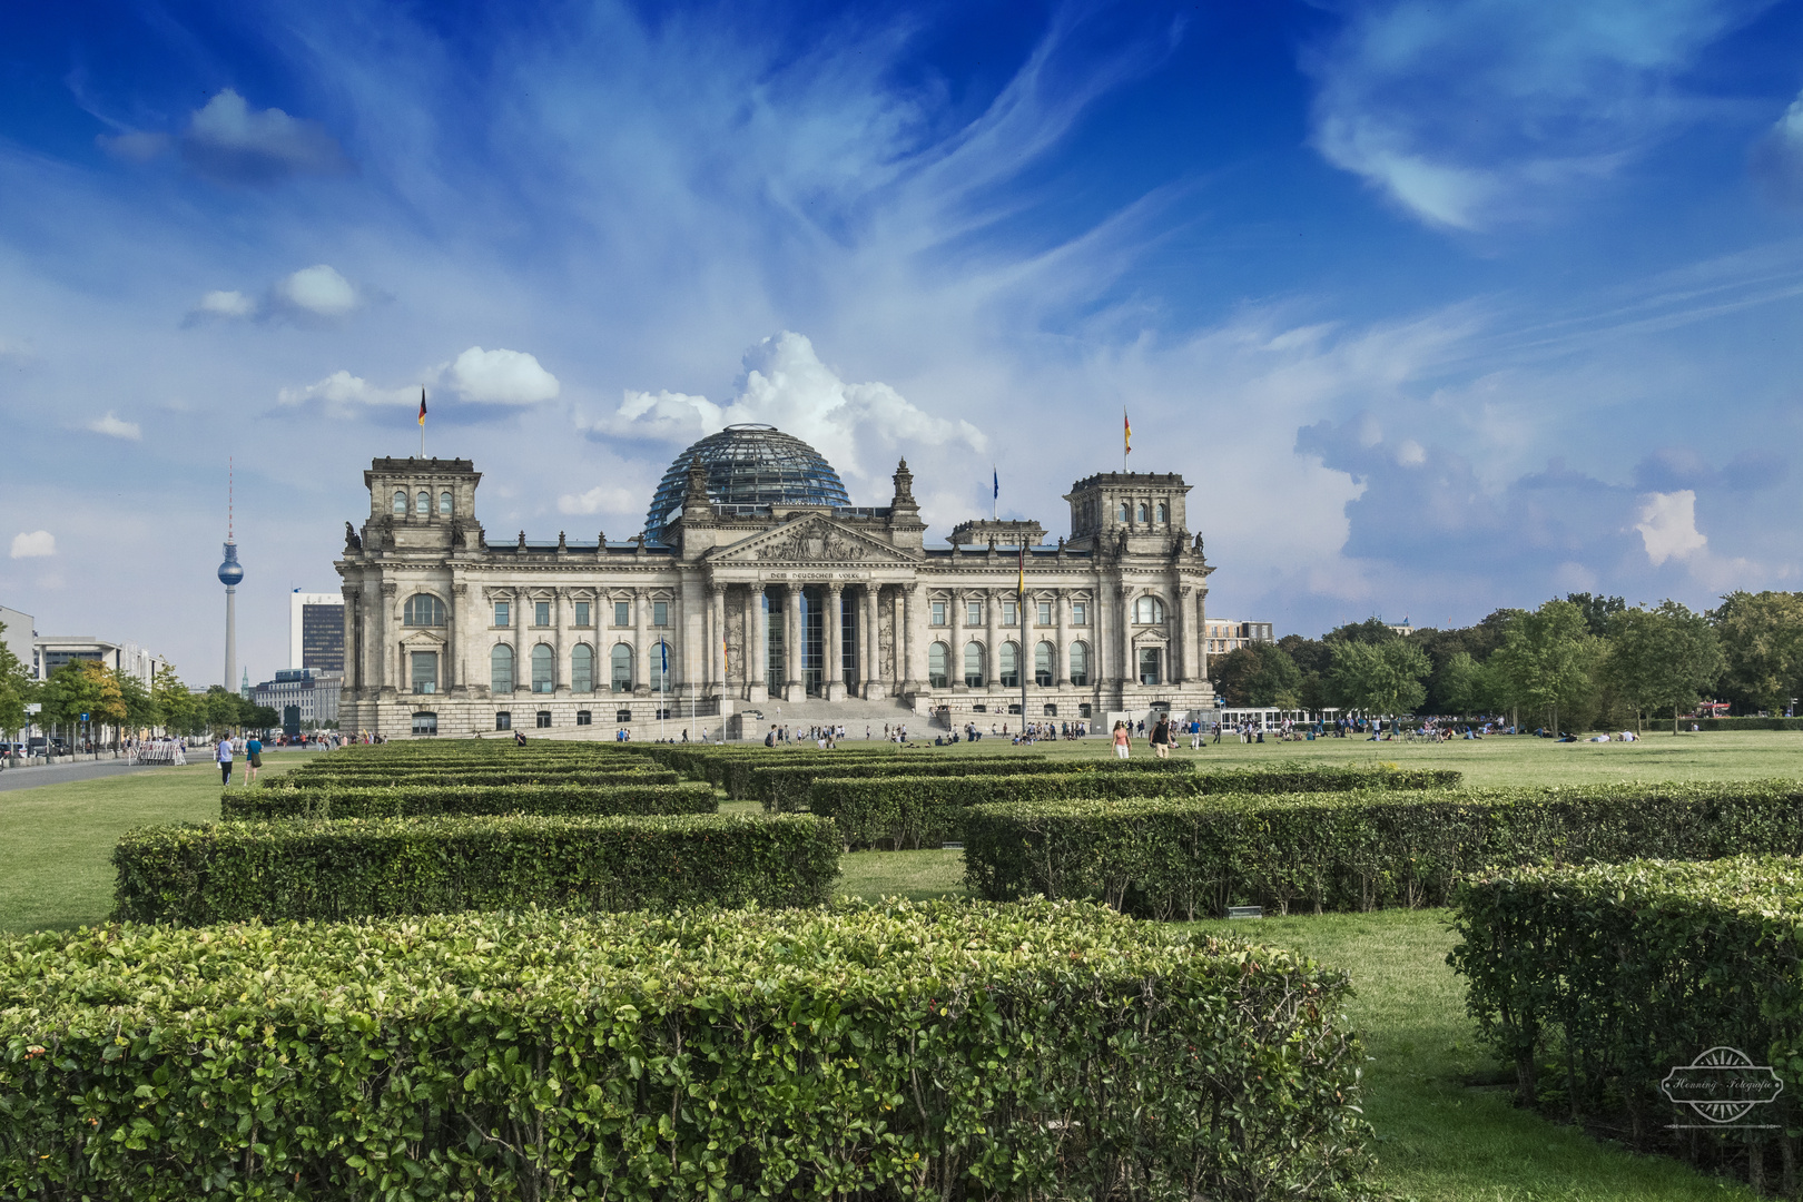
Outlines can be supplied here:
M0 1191L1338 1198L1345 975L1089 906L0 941Z

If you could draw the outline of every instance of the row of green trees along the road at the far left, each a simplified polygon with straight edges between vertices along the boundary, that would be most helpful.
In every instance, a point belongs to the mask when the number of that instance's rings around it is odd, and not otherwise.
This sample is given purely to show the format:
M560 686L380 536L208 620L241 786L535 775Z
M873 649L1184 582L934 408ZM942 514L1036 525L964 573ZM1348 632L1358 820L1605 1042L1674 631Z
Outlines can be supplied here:
M0 634L5 634L4 622ZM27 712L32 703L43 706L36 717ZM16 739L27 724L79 732L83 714L92 730L110 728L114 733L160 730L169 735L204 735L281 724L274 706L252 705L220 685L193 692L168 663L157 669L150 685L94 660L70 660L50 672L49 679L34 681L31 669L0 642L0 733L7 741Z

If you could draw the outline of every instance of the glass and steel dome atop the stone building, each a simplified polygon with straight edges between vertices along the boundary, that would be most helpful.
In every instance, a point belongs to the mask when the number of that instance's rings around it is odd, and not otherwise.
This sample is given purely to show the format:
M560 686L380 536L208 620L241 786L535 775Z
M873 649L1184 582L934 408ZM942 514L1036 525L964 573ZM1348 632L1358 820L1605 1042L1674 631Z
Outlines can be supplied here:
M671 463L651 497L645 532L656 535L682 508L689 461L707 469L707 499L723 514L757 514L772 505L849 506L851 497L820 452L773 425L728 425Z

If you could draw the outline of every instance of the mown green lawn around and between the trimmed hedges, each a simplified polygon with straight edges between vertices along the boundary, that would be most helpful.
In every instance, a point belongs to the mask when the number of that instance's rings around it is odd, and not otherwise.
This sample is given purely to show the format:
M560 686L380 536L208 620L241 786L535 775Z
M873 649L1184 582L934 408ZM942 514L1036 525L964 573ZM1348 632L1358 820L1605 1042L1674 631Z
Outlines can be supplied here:
M923 755L999 751L984 739ZM1100 757L1100 741L1040 744L1057 757ZM305 753L265 755L285 771ZM1134 744L1134 755L1147 755ZM1275 760L1320 764L1396 762L1459 768L1473 786L1576 784L1625 779L1803 777L1803 733L1650 733L1634 744L1554 744L1545 739L1410 744L1329 739L1316 742L1183 748L1203 766ZM723 806L755 813L752 802ZM0 930L67 928L105 919L112 905L114 842L128 827L218 818L211 764L0 793ZM840 863L853 896L938 897L963 892L956 851L855 852ZM1451 1202L1614 1202L1628 1198L1753 1198L1682 1164L1601 1144L1578 1130L1509 1105L1486 1087L1495 1065L1475 1045L1464 989L1446 968L1453 937L1444 910L1392 910L1325 917L1206 923L1262 942L1296 948L1347 970L1358 991L1350 1018L1365 1034L1367 1114L1377 1132L1377 1184L1396 1198ZM1478 1081L1473 1085L1471 1081Z

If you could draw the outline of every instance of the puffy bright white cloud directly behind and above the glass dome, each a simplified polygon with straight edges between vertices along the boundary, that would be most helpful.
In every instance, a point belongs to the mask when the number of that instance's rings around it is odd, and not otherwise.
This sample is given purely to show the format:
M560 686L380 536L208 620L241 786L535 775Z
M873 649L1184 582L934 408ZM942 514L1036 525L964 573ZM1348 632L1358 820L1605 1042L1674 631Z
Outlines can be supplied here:
M887 384L847 384L820 362L813 342L790 330L745 353L737 391L725 405L687 393L627 391L611 418L595 429L689 443L748 422L801 438L842 478L858 481L885 478L894 467L892 456L929 451L981 456L988 447L988 438L970 422L934 416Z

